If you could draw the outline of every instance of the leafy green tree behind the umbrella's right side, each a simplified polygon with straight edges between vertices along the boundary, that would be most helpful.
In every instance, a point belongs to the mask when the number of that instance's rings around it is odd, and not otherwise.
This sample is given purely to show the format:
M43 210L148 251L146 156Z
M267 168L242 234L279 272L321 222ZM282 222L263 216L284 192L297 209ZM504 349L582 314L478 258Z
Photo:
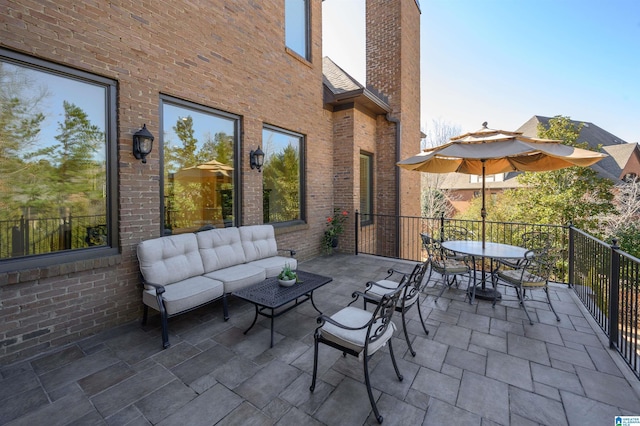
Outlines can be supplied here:
M559 139L566 145L589 149L577 143L580 126L568 117L556 116L549 126L538 125L538 136ZM613 211L613 183L597 175L590 167L570 167L549 172L524 172L517 177L520 188L506 191L501 202L508 202L510 217L506 220L567 224L594 232L598 216ZM503 211L507 211L504 209ZM493 218L492 218L493 219Z

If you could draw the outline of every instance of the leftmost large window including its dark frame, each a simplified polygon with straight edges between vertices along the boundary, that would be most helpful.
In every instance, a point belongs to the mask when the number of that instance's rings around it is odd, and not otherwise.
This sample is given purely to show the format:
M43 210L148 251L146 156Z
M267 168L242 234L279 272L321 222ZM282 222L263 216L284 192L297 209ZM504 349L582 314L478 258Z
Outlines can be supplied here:
M115 245L115 146L114 81L0 49L0 270Z

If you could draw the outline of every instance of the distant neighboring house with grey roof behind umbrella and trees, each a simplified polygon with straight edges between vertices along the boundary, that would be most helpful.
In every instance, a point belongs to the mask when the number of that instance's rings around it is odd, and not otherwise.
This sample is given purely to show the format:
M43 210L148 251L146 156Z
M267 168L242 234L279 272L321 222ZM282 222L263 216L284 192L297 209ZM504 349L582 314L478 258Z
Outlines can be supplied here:
M525 136L538 137L538 124L548 126L550 119L551 117L534 115L516 131ZM627 143L593 123L576 120L572 122L576 126L582 124L578 142L588 142L592 149L601 146L601 151L609 155L591 166L600 177L617 183L640 175L640 147L637 143ZM487 176L487 196L496 196L505 189L518 187L516 177L519 174L520 172L509 172ZM451 205L461 212L469 207L473 198L481 195L482 180L479 176L449 173L441 180L440 187L449 190Z

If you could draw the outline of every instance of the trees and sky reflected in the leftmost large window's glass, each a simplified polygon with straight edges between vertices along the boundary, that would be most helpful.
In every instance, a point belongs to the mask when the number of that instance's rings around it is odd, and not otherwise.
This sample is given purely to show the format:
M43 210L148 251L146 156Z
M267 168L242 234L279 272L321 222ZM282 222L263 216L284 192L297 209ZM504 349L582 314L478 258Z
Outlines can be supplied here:
M106 224L105 117L78 104L88 86L0 62L0 259L87 247Z

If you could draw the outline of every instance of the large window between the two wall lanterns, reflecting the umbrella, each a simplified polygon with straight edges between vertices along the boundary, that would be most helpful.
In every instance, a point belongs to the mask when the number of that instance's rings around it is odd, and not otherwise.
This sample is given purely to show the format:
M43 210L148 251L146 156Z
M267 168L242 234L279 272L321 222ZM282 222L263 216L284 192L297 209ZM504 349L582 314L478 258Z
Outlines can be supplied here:
M162 100L164 233L236 225L239 117Z

